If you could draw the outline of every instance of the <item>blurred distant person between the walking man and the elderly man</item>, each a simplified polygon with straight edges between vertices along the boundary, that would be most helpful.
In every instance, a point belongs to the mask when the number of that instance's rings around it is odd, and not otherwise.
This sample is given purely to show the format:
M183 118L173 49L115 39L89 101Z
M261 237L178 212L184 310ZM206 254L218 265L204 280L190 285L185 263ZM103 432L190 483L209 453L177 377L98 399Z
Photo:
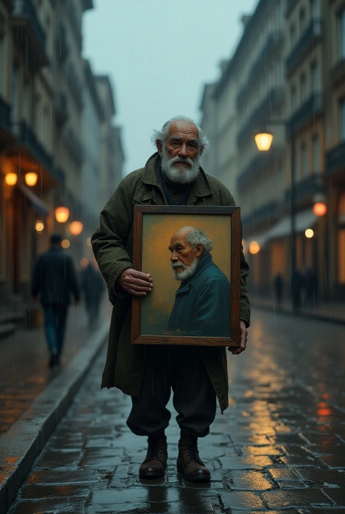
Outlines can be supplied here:
M81 289L89 319L89 328L94 328L99 319L102 294L106 287L97 263L89 263L82 271Z

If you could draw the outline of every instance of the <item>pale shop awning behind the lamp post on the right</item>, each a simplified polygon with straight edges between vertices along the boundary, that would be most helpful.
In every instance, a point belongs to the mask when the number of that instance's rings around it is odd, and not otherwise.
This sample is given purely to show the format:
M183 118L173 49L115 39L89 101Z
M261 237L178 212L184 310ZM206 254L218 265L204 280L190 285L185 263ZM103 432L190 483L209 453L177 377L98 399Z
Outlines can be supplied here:
M318 219L319 218L315 216L313 209L306 209L304 211L297 212L295 216L296 234L304 232L307 228L312 228ZM260 246L263 246L265 243L267 243L267 241L290 235L291 218L290 216L285 216L278 223L273 225L270 230L256 237L253 236L251 240L259 243Z

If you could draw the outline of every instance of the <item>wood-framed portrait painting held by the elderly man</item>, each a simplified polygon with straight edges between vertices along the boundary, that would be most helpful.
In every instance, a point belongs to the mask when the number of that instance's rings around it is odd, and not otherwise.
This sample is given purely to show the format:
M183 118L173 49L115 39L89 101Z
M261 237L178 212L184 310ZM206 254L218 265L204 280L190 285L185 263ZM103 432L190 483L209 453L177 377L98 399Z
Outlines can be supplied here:
M240 247L239 207L135 205L131 342L238 347Z

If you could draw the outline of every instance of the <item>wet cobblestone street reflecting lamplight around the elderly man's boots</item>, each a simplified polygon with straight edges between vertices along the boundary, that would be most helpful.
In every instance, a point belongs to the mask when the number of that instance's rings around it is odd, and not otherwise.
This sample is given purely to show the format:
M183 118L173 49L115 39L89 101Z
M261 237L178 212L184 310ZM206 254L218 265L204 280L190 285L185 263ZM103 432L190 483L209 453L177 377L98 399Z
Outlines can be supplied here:
M343 326L254 311L247 351L229 354L231 405L199 439L204 485L176 472L174 417L165 478L139 480L146 439L126 426L130 398L100 390L103 353L10 514L345 512L344 341Z

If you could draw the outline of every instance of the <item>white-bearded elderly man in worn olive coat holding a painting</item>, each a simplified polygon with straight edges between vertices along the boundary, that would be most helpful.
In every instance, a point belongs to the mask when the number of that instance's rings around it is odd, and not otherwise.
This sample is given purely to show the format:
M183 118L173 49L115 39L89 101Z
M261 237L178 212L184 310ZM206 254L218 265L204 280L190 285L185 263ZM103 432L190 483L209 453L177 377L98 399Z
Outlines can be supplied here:
M197 439L209 432L216 395L222 413L228 406L225 348L131 344L131 296L145 296L155 287L148 273L132 267L133 205L233 206L235 202L222 183L200 167L208 140L192 120L172 118L152 139L158 152L144 168L121 181L91 238L114 305L102 387L117 387L131 396L127 425L133 433L148 437L147 456L139 475L150 479L162 476L165 470L164 430L170 419L166 404L172 388L181 429L178 470L187 480L208 481L210 473L200 460ZM250 323L248 271L241 252L241 340L233 351L236 355L245 350Z

